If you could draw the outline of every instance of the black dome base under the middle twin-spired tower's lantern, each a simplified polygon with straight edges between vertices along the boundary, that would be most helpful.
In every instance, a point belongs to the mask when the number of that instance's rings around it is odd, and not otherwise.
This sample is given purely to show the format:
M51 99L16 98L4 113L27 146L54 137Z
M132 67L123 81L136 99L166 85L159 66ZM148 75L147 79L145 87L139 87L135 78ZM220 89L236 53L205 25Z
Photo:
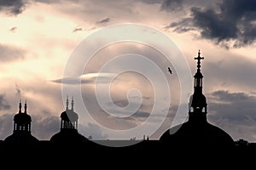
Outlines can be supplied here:
M54 143L83 143L87 141L87 139L81 135L77 129L61 129L61 132L55 133L50 138L51 142Z

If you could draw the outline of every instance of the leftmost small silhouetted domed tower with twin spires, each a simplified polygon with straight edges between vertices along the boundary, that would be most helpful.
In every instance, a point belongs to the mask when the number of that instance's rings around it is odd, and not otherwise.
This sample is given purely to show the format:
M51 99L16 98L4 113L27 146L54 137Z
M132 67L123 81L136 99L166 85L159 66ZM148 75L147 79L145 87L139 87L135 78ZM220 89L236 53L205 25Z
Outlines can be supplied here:
M15 143L34 143L38 142L38 139L31 134L31 116L26 112L27 105L25 103L24 112L21 111L21 101L19 105L19 112L14 117L14 131L9 137L4 139L5 142Z

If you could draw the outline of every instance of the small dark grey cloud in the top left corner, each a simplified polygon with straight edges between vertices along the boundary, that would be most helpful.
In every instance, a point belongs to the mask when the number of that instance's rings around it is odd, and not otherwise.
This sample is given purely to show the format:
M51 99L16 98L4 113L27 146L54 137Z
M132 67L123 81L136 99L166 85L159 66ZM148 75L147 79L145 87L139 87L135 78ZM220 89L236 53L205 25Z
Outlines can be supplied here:
M0 12L11 15L21 14L26 3L26 0L0 0Z

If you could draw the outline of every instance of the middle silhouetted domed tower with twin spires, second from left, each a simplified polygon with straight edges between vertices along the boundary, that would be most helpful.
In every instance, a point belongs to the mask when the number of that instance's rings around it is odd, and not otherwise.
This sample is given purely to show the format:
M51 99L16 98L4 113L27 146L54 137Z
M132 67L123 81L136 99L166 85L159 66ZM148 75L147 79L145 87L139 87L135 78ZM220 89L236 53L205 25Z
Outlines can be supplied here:
M79 115L74 111L74 101L72 98L71 109L68 108L69 101L67 96L66 111L61 113L61 131L55 133L50 139L51 142L65 143L74 142L80 143L87 139L78 132Z

